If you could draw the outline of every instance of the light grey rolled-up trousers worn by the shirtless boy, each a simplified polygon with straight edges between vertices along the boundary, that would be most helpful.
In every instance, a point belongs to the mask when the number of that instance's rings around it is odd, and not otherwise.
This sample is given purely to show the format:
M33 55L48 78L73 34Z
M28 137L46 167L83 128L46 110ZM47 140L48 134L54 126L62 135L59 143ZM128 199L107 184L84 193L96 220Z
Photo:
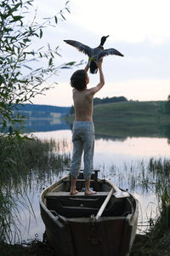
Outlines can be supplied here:
M94 123L90 121L74 121L72 143L71 176L78 177L82 162L82 151L84 151L84 178L88 179L93 172Z

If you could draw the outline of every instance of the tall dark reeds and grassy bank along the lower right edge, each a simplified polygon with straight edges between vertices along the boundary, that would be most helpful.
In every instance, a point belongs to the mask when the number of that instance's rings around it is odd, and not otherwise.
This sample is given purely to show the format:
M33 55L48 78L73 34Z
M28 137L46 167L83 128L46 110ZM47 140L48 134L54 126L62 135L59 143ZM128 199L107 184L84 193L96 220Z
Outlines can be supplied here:
M148 172L150 177L146 177L145 184L152 191L155 190L159 216L155 224L150 226L150 230L145 235L137 235L133 244L131 255L139 256L168 256L170 252L170 160L150 159Z

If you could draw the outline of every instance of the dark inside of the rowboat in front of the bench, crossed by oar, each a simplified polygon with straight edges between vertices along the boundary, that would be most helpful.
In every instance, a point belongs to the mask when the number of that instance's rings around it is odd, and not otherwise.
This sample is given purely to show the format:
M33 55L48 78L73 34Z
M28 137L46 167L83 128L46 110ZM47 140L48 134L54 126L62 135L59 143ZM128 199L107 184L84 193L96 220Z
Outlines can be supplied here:
M100 191L94 195L84 195L79 192L76 195L70 195L70 192L47 192L45 198L49 210L54 210L58 214L68 218L89 217L97 214L99 207L105 201L109 191ZM120 216L124 212L124 199L117 199L111 196L111 201L105 207L104 215ZM115 207L113 207L115 205Z

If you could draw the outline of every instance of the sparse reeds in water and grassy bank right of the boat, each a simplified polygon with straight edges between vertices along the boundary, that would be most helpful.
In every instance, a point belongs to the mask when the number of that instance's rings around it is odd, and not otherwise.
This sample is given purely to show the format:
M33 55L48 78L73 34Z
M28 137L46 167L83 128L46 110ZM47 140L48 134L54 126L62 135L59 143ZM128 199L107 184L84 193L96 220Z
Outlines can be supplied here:
M112 175L112 177L111 177ZM170 159L151 158L116 169L111 166L106 177L128 187L131 192L152 193L157 198L157 214L148 216L147 229L136 236L130 255L160 256L170 252ZM151 202L150 202L151 203ZM154 214L153 214L154 215Z

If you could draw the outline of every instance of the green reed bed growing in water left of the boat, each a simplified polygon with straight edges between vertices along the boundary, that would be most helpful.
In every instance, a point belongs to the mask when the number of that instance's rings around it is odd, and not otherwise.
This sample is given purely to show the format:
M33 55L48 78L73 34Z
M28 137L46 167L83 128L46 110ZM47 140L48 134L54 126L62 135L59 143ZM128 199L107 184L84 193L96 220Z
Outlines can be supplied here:
M0 241L21 240L16 219L20 222L20 209L24 207L34 215L27 188L31 182L52 179L70 162L65 141L40 141L36 138L19 142L16 137L0 138ZM56 153L57 152L57 153ZM19 217L18 217L19 216Z

